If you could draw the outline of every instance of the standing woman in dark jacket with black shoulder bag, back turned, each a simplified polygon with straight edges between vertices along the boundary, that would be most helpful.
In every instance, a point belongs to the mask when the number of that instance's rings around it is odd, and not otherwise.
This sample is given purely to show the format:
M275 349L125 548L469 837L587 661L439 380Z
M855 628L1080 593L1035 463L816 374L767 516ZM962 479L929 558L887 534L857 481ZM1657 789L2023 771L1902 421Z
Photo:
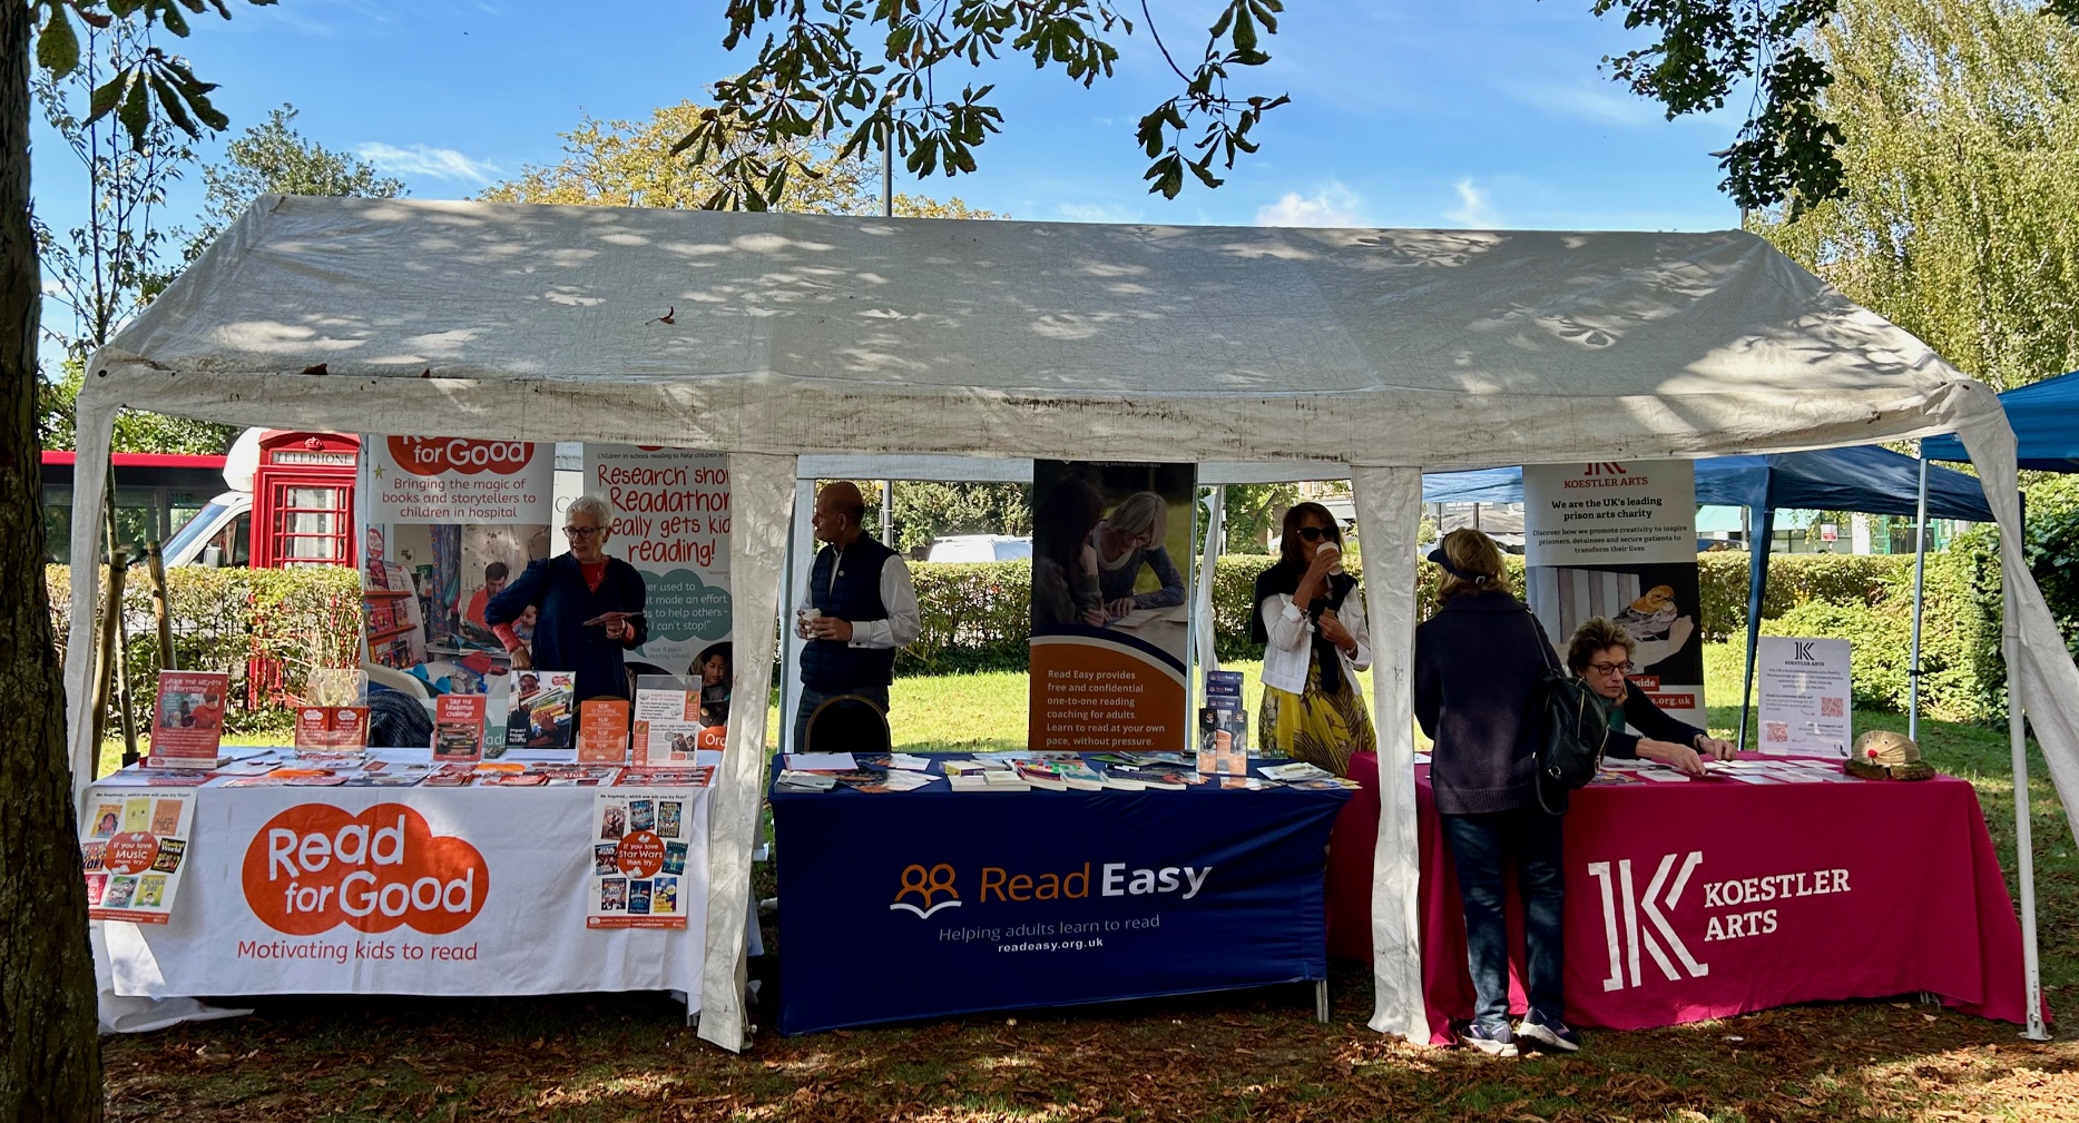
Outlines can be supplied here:
M1551 641L1509 593L1501 547L1486 534L1451 530L1428 559L1443 568L1441 603L1416 626L1414 693L1416 722L1435 742L1430 788L1466 909L1476 1002L1459 1042L1493 1056L1516 1056L1518 1038L1574 1052L1580 1038L1563 1021L1563 817L1547 813L1538 799L1528 722L1530 697L1553 661ZM1524 898L1530 998L1514 1029L1505 861L1514 861Z

